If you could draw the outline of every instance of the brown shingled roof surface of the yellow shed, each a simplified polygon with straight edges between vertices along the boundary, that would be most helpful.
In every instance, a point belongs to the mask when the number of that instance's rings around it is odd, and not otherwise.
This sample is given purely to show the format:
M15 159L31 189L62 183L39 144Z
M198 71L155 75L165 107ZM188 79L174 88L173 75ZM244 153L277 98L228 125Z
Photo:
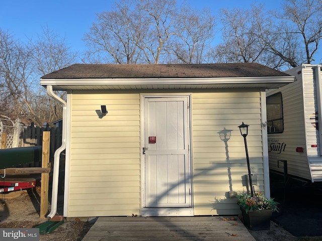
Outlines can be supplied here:
M227 78L289 76L257 63L232 64L73 64L42 79Z

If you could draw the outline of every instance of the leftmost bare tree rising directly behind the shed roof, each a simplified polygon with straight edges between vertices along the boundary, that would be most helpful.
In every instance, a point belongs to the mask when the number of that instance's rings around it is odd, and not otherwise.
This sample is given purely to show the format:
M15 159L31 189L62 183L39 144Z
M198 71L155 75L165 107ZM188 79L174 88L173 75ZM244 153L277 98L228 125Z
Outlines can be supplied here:
M122 0L115 11L97 14L97 23L85 34L88 51L83 61L92 63L135 64L140 61L137 43L148 27L134 9L132 0Z

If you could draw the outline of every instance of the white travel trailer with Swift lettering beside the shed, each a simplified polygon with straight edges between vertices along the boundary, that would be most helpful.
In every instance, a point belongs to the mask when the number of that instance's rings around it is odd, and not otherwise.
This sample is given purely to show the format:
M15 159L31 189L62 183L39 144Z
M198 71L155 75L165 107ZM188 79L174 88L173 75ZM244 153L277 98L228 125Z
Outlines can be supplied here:
M267 90L269 167L285 177L322 182L321 67L285 71L294 82Z

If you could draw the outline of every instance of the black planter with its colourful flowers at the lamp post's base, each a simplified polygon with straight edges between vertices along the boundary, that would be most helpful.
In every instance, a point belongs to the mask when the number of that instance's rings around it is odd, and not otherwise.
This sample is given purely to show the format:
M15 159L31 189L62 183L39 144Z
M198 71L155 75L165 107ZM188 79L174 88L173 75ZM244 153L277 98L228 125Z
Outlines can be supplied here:
M254 193L252 197L248 193L237 194L237 204L245 226L251 230L269 230L273 211L278 211L278 202L270 200L263 193Z

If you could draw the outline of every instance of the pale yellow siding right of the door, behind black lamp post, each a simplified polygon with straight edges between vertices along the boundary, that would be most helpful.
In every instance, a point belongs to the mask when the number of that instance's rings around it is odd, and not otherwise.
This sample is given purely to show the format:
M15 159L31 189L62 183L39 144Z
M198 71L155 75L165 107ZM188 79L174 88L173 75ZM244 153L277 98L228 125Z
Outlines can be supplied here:
M239 212L229 191L245 191L248 174L244 138L238 126L250 125L247 137L256 191L264 191L260 92L192 94L192 157L195 215ZM231 130L228 142L218 132Z

